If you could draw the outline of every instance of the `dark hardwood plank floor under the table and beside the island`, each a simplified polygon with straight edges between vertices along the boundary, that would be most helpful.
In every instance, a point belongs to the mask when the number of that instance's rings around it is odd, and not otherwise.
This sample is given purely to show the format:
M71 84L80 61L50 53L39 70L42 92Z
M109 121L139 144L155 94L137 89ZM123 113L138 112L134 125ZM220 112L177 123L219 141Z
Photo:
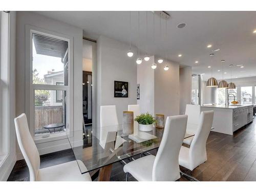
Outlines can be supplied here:
M242 127L233 136L211 132L206 149L205 163L192 172L184 167L180 169L199 181L256 181L256 121ZM156 151L151 153L155 155ZM41 155L40 159L40 168L75 160L72 150ZM8 181L16 180L29 180L29 171L24 160L16 162L8 178ZM123 163L113 164L111 181L125 181ZM130 175L129 181L136 179ZM180 181L188 179L182 176Z

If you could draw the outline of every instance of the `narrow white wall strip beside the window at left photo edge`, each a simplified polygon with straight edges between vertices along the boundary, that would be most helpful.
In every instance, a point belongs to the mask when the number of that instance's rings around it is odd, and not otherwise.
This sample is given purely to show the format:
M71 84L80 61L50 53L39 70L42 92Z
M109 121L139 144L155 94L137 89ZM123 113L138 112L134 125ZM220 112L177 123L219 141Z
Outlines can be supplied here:
M8 155L0 166L0 181L6 181L16 162L16 134L14 127L15 118L15 28L16 28L16 12L9 13L10 33L9 33L9 133L8 133Z

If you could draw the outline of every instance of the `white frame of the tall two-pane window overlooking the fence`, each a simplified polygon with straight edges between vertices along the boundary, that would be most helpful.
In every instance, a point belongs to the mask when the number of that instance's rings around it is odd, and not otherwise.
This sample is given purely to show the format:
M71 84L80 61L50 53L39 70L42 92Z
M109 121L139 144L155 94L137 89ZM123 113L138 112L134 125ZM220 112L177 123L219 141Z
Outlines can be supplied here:
M69 35L65 35L62 33L57 33L45 29L41 29L35 26L26 25L26 100L25 100L25 112L27 114L28 118L28 124L30 127L30 133L34 140L40 140L41 142L50 141L50 140L58 140L63 137L63 134L66 135L66 133L56 133L56 134L50 134L50 138L43 138L45 134L40 134L38 136L35 136L34 134L34 124L35 124L35 106L34 106L34 90L60 90L60 91L66 91L67 97L66 97L66 118L67 118L67 124L66 129L67 131L73 130L73 37ZM33 70L33 52L32 52L32 37L33 33L41 34L61 40L68 41L68 63L69 63L69 71L68 71L68 86L57 86L57 85L51 85L51 84L33 84L32 79L32 70Z

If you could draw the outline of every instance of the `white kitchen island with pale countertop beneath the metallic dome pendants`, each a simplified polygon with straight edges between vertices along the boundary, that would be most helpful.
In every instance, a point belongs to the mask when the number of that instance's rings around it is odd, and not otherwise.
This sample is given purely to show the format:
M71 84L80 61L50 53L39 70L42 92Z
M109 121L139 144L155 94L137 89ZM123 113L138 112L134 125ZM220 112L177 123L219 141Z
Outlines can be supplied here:
M253 121L253 104L201 106L201 111L210 110L214 110L212 131L215 132L233 135L234 131Z

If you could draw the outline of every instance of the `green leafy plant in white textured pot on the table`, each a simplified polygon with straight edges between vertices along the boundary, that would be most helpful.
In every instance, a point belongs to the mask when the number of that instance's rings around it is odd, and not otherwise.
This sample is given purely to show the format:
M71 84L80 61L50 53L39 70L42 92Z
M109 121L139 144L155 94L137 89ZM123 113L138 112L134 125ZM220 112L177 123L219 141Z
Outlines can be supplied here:
M139 123L139 130L143 132L150 132L153 130L155 118L149 113L142 113L138 115L135 119Z

